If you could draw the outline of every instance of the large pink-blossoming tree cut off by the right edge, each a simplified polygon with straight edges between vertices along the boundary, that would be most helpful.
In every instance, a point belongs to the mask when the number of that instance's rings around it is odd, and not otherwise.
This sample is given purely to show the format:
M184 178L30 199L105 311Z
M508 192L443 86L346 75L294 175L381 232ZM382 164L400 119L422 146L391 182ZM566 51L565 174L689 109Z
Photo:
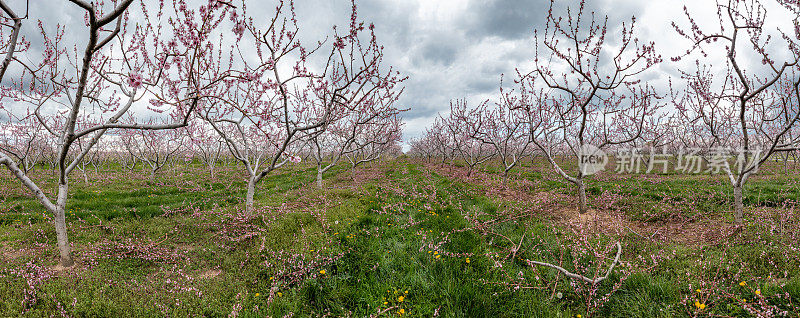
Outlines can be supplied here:
M795 1L780 2L790 15L800 14ZM695 71L682 72L687 88L676 107L697 142L712 148L706 149L712 152L706 154L712 168L720 168L719 172L728 176L735 220L742 224L743 189L748 178L774 153L800 148L800 137L792 134L800 119L800 24L795 18L790 21L792 32L770 32L765 25L767 10L760 1L718 3L719 28L715 30L701 28L688 9L684 7L684 11L689 27L673 26L691 41L691 47L674 60L694 52L704 59L711 59L709 52L722 53L726 68L718 74L698 60ZM750 63L753 57L760 66ZM736 158L733 167L724 159L728 156Z

